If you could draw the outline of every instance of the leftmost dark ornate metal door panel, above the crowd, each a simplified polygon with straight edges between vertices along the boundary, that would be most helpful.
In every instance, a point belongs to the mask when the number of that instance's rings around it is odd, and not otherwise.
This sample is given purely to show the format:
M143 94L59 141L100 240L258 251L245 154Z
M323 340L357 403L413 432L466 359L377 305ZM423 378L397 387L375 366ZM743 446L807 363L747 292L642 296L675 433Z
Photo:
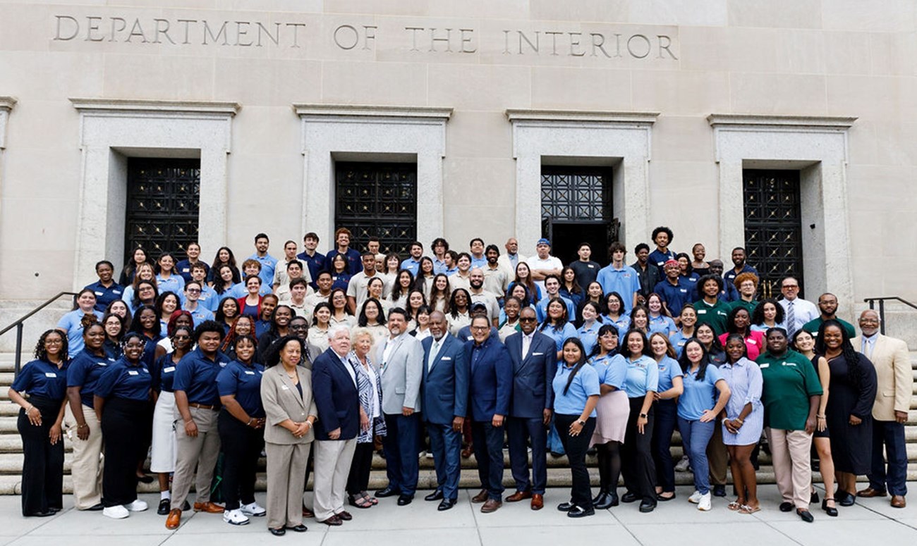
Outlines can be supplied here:
M199 159L129 158L125 256L142 246L151 258L181 259L197 241L200 186Z

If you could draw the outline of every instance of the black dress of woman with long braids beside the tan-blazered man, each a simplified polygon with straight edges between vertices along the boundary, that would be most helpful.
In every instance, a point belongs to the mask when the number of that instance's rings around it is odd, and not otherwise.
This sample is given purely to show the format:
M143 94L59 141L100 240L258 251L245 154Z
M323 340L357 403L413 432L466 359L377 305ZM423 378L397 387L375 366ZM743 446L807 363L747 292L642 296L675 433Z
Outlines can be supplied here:
M825 416L831 431L831 456L837 472L865 475L872 461L872 405L876 399L876 368L864 355L859 355L862 369L859 388L849 377L844 355L828 361L831 382ZM862 420L851 425L851 415Z

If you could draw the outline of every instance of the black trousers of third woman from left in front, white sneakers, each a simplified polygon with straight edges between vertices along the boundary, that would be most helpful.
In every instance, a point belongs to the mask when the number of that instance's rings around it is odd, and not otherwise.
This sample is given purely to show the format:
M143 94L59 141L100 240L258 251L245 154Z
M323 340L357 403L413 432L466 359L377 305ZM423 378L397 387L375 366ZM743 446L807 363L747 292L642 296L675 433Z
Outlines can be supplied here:
M102 412L105 438L105 469L102 474L102 503L106 507L137 500L137 461L146 449L147 400L107 399Z

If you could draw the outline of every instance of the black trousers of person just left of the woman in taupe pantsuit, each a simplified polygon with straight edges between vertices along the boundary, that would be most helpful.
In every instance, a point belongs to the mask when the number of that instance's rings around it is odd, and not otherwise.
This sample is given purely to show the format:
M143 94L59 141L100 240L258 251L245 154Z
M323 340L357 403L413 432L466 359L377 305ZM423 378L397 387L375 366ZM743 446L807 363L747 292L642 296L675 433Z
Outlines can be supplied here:
M255 502L255 475L264 448L264 431L253 429L226 409L216 418L216 431L223 450L223 500L227 510Z

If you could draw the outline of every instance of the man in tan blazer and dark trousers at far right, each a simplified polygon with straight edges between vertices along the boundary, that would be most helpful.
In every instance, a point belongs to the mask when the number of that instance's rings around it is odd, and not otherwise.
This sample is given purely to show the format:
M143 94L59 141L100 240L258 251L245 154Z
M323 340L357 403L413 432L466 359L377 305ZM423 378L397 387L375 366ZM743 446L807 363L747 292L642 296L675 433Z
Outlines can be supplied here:
M869 486L856 497L885 497L891 494L891 506L907 506L908 453L904 444L904 423L908 420L913 392L913 375L908 344L879 333L878 312L860 313L862 335L850 340L854 349L866 355L876 366L876 402L872 407L872 469ZM888 455L886 468L882 447Z

